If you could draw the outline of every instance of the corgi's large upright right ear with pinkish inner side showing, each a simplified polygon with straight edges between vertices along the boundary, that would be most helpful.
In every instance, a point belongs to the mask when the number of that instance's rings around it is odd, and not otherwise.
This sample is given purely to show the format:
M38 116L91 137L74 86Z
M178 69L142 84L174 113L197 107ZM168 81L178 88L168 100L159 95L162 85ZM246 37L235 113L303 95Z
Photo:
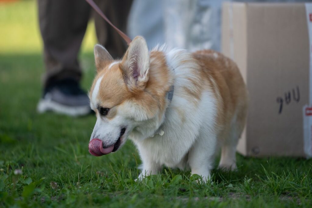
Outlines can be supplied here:
M143 37L137 36L130 43L122 59L121 69L130 90L145 88L149 80L149 49Z

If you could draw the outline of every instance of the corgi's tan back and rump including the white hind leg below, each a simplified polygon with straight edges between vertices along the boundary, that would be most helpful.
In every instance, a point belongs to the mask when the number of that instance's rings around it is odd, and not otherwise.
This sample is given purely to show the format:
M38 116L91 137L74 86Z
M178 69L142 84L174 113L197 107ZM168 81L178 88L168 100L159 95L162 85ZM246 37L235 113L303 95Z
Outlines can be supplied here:
M221 128L218 144L222 146L220 167L235 169L237 140L246 122L247 90L234 61L213 50L193 53L205 76L211 80L218 104L217 124Z

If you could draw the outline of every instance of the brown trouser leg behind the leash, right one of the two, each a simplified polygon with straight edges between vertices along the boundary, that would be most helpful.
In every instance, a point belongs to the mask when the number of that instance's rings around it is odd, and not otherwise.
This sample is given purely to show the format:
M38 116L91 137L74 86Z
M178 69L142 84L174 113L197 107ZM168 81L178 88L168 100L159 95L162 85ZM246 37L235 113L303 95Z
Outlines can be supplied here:
M96 4L109 18L109 20L126 33L128 14L132 0L98 0ZM96 36L99 43L110 52L113 58L121 58L127 49L127 44L105 20L96 12L93 13L95 20Z

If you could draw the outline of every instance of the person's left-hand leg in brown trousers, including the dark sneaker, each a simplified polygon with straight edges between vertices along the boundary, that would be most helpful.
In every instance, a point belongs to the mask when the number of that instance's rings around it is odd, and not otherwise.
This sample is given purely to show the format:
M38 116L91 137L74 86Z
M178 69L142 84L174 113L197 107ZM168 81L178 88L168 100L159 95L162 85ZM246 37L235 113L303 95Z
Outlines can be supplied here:
M84 0L38 0L38 10L46 65L38 111L87 114L89 99L79 86L82 73L77 55L90 6Z

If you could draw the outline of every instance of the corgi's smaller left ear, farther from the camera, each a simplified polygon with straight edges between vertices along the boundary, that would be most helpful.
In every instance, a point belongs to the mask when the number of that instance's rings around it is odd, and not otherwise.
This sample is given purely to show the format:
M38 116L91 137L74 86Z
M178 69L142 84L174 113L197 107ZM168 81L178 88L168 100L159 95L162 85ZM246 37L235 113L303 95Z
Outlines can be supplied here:
M99 44L96 44L94 46L94 58L97 72L104 69L107 64L113 61L113 58L112 56L110 56L110 53Z

